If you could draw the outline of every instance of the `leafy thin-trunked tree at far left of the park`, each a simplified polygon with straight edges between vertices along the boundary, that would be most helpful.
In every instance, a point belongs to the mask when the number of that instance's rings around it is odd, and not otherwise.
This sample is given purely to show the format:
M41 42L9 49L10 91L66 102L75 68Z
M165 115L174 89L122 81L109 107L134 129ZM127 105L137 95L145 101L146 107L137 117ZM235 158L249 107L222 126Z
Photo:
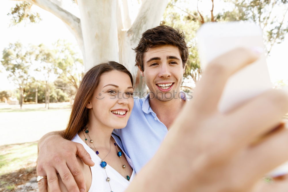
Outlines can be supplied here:
M8 79L19 87L20 108L24 102L24 89L31 79L29 69L32 65L33 50L30 46L24 48L20 42L9 44L3 50L1 63L8 73Z

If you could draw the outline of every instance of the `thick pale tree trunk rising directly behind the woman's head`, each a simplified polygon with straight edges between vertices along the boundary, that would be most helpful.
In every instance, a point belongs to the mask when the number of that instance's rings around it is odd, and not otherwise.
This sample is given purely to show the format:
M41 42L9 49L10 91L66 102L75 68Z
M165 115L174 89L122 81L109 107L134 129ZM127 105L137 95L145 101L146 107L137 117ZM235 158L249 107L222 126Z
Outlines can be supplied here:
M79 0L85 69L104 61L119 62L116 1Z

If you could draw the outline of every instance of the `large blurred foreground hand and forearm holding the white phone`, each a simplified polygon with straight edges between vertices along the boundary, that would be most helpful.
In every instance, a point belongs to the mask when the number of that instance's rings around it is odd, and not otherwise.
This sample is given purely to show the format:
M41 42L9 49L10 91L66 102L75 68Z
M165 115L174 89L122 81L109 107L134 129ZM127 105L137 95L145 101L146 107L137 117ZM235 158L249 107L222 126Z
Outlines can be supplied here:
M288 160L288 130L279 127L288 112L287 93L269 90L225 114L217 110L228 78L258 57L239 48L207 66L193 99L127 192L254 192L260 178ZM285 182L269 187L287 191Z

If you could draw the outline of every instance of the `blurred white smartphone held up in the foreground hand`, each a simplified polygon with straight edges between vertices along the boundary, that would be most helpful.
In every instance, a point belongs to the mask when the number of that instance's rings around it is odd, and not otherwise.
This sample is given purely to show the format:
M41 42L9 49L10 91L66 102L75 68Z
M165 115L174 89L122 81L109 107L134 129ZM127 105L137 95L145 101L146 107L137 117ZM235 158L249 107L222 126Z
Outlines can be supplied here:
M201 67L204 70L211 60L234 48L258 47L266 50L261 28L251 22L205 23L198 30L196 38ZM271 88L266 53L263 51L257 61L244 67L228 79L218 104L218 110L224 113L228 112L243 101ZM276 177L287 173L288 164L278 167L268 176Z

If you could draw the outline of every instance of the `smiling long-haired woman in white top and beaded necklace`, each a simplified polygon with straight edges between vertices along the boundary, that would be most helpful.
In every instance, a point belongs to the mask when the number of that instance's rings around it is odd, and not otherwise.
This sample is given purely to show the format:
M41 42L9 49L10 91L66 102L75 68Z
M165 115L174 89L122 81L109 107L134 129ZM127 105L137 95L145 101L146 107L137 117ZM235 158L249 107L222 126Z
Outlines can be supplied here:
M134 177L131 160L122 151L120 139L112 134L113 129L127 124L133 91L132 75L113 61L91 68L82 79L65 138L81 143L95 163L89 167L78 158L89 191L124 191ZM67 191L58 179L61 191Z

